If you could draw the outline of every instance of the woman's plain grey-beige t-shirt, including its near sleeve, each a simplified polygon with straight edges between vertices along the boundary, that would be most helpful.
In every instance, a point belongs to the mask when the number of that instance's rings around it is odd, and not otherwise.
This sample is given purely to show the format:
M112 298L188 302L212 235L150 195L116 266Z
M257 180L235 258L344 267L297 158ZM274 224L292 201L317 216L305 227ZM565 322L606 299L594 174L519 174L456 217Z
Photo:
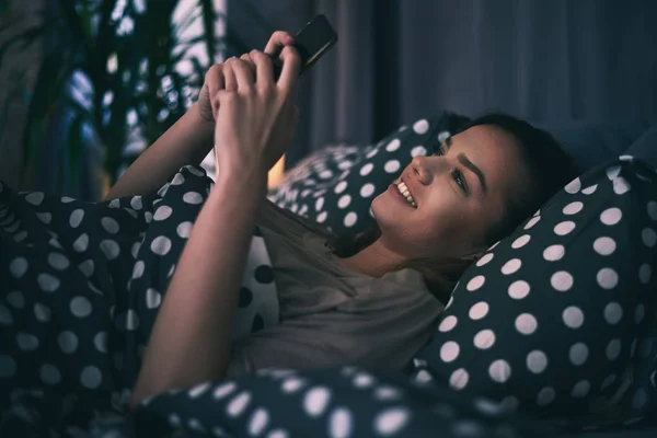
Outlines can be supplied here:
M428 341L443 306L419 273L373 278L347 270L314 222L268 200L257 223L274 268L280 323L232 344L229 378L268 367L399 371Z

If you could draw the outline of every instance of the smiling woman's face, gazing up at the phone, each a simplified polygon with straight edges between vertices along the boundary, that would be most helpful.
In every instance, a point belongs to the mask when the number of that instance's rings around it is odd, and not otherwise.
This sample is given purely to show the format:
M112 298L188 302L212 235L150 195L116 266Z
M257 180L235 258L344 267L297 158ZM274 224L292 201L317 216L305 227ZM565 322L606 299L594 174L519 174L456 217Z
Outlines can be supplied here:
M509 197L528 184L516 140L500 128L474 126L440 149L415 157L372 201L381 243L404 258L463 257L486 250L486 231L504 217ZM400 183L410 196L403 196Z

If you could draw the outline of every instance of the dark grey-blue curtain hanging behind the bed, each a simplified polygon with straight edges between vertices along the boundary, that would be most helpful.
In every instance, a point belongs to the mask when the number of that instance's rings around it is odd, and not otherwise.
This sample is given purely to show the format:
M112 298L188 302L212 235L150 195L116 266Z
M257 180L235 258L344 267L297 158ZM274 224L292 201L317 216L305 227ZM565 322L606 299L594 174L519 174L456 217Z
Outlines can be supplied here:
M657 119L657 1L228 0L229 25L257 48L316 13L339 41L300 81L288 165L443 110Z

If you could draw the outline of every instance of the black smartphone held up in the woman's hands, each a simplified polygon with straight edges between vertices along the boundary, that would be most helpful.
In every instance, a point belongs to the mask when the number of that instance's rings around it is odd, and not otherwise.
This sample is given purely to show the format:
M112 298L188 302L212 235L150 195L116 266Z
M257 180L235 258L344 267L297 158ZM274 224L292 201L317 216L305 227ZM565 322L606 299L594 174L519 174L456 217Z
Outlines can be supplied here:
M337 42L337 34L328 23L325 15L320 14L306 24L301 31L295 35L295 48L301 56L302 74L308 70L322 55L326 53ZM283 61L278 58L277 53L272 56L274 64L274 80L278 80Z

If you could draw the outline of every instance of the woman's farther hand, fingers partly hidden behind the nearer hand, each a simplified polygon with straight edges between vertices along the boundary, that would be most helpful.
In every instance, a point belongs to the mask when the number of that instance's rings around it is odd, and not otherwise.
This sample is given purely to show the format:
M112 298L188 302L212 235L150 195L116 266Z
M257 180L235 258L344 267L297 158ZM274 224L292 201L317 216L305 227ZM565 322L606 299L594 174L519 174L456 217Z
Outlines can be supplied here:
M265 54L276 55L285 46L295 44L295 38L288 32L276 31L272 34L272 37L265 46ZM251 60L249 54L244 54L240 59L245 60L251 67L253 74L255 76L255 65ZM200 116L204 120L215 123L217 119L217 113L219 112L219 100L211 100L210 96L216 96L219 90L226 90L237 88L235 78L232 74L232 70L223 69L222 64L215 64L208 69L205 76L205 81L200 93L198 94L198 107L200 110Z

